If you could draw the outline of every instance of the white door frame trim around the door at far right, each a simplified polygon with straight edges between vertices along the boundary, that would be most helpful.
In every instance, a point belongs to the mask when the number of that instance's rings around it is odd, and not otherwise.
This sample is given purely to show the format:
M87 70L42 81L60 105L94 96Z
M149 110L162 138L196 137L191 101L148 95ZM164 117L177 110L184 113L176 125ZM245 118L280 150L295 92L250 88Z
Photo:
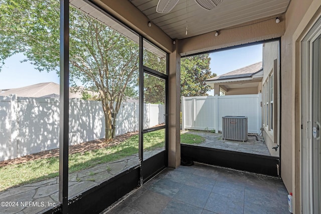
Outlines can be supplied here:
M313 212L312 42L321 35L321 17L301 40L301 212Z

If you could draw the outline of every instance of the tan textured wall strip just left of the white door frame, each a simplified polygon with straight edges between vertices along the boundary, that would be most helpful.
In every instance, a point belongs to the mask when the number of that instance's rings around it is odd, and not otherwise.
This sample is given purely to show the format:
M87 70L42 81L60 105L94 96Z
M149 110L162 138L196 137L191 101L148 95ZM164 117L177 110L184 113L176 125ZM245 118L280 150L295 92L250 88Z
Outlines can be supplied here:
M300 156L293 156L296 108L293 34L312 2L312 0L291 1L285 14L286 30L281 37L281 177L288 192L293 192L294 212L297 213L300 212L300 171L295 170L295 167L299 167L295 166L295 162L300 163Z

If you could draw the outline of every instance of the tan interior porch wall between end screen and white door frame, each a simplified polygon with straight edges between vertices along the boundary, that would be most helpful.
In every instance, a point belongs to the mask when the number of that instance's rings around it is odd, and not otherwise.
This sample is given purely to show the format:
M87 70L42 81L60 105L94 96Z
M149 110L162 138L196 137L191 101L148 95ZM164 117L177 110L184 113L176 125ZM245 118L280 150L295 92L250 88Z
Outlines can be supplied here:
M321 1L291 1L286 13L286 32L281 38L282 179L293 192L293 213L301 212L300 193L300 39L321 16ZM286 125L287 124L287 125Z

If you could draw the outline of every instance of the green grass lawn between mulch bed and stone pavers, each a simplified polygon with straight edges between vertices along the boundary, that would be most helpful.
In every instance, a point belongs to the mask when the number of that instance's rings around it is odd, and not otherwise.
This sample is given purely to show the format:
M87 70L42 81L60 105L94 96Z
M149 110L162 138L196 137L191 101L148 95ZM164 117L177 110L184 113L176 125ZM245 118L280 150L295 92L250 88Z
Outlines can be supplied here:
M181 134L181 142L196 144L204 138L194 134ZM144 151L164 147L165 132L158 130L144 134ZM69 155L69 173L93 167L138 153L138 135L118 145ZM32 183L58 176L59 157L32 160L26 163L0 167L0 191L10 187Z

